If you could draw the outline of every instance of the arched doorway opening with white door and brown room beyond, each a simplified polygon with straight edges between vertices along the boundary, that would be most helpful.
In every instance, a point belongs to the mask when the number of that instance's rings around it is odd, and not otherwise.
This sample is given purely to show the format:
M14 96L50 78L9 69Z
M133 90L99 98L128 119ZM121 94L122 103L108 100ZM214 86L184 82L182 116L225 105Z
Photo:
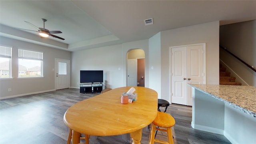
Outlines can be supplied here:
M135 49L127 52L126 86L145 86L145 53Z

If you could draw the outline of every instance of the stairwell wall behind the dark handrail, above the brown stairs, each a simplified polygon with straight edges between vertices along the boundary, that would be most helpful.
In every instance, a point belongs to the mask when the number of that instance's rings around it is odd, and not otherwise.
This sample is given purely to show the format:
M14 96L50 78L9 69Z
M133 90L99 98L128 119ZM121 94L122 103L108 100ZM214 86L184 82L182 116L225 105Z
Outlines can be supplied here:
M220 45L250 66L256 67L256 20L220 26ZM256 86L256 72L220 49L220 59L233 70L232 76L244 85ZM240 78L237 76L240 76Z

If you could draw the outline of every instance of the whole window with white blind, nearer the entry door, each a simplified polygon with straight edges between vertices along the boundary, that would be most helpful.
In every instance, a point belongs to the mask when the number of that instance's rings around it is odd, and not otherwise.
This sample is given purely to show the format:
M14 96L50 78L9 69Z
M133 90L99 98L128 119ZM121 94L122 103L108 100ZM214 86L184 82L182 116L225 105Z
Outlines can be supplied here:
M18 50L19 78L43 77L43 52Z

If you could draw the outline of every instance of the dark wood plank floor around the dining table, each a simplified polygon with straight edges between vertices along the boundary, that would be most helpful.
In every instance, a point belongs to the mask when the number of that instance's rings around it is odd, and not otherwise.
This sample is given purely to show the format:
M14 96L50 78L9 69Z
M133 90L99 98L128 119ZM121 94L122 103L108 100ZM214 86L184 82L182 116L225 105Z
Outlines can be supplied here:
M66 144L69 128L63 115L73 104L97 94L81 94L63 89L0 100L0 144ZM219 134L191 127L192 107L171 104L167 112L176 124L172 128L175 144L230 144ZM148 144L149 130L142 131L141 144ZM156 138L166 140L164 132ZM90 138L90 144L129 144L129 134Z

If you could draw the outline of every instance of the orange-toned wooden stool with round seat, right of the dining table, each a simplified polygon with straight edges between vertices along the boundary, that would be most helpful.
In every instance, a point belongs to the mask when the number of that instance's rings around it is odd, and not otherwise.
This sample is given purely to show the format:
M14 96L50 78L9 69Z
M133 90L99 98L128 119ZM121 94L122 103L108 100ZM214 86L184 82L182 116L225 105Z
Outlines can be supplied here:
M164 112L158 112L156 119L151 123L148 144L154 144L154 142L158 142L160 144L173 144L174 142L173 142L171 127L174 126L174 124L175 124L175 120L170 114L167 114ZM156 140L154 135L154 132L156 130L167 132L168 142L162 141L162 140Z

